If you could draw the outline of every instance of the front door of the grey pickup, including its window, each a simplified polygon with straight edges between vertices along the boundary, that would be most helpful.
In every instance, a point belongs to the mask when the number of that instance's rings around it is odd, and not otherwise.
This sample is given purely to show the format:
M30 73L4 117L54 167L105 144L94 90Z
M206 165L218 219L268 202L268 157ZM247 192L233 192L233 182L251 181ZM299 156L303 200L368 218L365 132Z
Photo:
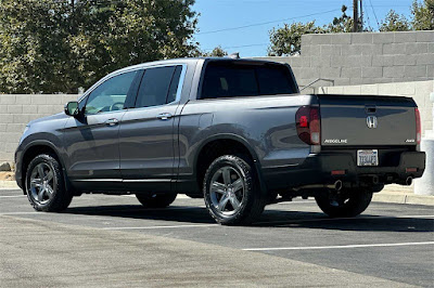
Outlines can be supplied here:
M119 189L119 123L127 99L136 97L141 71L116 75L80 102L82 116L64 129L66 169L74 186L85 191ZM136 87L136 88L135 88Z

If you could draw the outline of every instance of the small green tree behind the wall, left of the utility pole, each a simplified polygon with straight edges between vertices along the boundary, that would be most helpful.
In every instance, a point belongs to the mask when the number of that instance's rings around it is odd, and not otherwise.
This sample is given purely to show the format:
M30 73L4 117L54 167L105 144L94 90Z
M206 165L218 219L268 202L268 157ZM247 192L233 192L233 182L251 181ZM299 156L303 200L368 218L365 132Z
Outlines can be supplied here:
M321 27L315 25L315 21L284 24L282 28L270 30L271 45L268 48L269 56L299 54L302 48L302 35L323 32Z

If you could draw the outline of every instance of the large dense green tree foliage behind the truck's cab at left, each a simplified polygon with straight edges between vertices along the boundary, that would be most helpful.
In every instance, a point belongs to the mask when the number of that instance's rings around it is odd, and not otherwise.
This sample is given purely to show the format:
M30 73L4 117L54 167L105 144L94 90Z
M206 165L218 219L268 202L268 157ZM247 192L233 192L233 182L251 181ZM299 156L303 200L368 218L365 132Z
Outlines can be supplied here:
M0 92L76 93L117 68L190 55L194 0L0 1Z

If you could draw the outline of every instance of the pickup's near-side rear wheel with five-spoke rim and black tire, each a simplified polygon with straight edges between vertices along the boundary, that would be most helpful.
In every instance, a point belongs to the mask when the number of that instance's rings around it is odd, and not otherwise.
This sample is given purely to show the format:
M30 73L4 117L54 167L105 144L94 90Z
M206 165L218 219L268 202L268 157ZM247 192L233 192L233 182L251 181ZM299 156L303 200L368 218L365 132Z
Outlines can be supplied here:
M259 188L256 170L247 159L225 155L206 170L205 205L215 221L222 225L251 224L264 211L266 197Z

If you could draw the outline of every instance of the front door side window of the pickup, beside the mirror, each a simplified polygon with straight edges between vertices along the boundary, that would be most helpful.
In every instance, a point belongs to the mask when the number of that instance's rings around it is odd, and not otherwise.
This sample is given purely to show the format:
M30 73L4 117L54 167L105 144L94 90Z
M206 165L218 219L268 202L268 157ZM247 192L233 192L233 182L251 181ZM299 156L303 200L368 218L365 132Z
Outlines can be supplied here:
M124 108L125 101L135 87L133 80L139 71L129 71L101 83L93 90L87 100L85 113L98 114L103 112L120 110Z

